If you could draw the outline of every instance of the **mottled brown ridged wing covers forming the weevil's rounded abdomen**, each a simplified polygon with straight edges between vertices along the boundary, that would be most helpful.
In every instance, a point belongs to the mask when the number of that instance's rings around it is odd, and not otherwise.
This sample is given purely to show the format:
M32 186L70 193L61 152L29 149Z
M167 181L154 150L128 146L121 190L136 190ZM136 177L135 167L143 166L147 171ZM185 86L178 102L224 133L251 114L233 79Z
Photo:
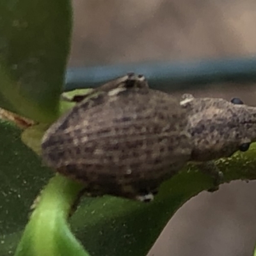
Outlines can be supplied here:
M92 196L152 200L191 154L179 100L128 74L84 95L45 132L44 163Z

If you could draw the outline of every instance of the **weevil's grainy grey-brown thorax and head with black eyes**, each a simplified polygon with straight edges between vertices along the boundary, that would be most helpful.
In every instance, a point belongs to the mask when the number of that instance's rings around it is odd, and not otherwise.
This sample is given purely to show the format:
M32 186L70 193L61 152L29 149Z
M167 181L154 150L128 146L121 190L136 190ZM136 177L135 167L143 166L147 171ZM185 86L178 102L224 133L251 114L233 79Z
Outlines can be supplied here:
M191 160L210 161L245 152L256 141L256 108L238 99L195 99L189 117Z

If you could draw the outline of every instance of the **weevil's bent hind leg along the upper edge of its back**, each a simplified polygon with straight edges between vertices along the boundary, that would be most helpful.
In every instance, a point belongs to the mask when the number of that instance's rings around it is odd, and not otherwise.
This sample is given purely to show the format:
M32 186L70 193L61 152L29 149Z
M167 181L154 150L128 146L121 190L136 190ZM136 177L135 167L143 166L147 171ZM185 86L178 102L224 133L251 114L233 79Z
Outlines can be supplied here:
M129 73L126 76L118 77L112 81L109 81L102 86L94 88L90 92L81 95L75 95L72 99L65 99L65 96L62 95L64 100L71 102L81 102L86 98L90 98L93 95L97 95L100 92L109 92L116 88L148 88L147 79L143 75L136 75L134 73Z

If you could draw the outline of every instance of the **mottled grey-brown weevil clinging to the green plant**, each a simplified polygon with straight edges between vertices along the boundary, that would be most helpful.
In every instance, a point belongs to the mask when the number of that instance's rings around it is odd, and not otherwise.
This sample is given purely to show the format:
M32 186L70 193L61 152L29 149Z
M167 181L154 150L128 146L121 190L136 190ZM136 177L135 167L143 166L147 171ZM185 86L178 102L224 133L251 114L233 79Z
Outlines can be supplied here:
M177 99L148 88L140 75L120 77L74 100L76 106L45 132L42 157L83 182L92 196L148 202L189 161L208 164L256 140L256 108L239 99ZM219 177L218 170L212 173Z

